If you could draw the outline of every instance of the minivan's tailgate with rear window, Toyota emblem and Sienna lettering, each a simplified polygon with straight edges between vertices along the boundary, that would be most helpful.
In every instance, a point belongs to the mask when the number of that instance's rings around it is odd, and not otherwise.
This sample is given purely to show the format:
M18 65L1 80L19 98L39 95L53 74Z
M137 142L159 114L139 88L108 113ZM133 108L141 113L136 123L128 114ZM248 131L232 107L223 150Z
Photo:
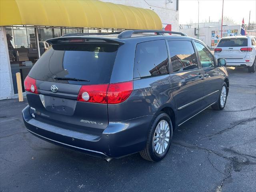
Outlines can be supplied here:
M27 92L33 117L54 126L101 134L108 125L107 104L77 98L84 85L93 91L109 84L118 46L71 38L48 48L28 74L38 90L38 94Z

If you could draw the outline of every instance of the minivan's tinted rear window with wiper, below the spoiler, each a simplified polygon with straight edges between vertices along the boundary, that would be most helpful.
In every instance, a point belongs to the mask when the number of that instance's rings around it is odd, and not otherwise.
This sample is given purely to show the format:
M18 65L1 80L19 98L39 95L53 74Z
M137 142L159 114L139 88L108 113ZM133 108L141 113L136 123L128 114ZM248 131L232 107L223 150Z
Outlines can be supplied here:
M37 80L66 84L107 84L110 82L118 45L52 45L28 74ZM56 80L76 78L86 81Z

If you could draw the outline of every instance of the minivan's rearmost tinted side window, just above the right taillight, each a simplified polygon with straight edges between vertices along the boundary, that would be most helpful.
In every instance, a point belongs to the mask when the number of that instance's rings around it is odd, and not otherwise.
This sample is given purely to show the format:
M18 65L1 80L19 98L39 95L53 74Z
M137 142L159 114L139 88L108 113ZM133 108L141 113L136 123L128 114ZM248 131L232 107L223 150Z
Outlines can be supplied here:
M134 61L134 78L168 73L169 62L165 40L137 44Z

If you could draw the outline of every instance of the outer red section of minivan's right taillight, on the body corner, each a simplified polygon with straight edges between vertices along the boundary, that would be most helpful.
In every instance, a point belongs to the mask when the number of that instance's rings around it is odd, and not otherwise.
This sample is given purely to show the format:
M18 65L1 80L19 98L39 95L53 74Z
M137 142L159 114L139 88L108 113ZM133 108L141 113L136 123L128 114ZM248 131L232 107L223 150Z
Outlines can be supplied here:
M125 101L132 93L132 90L132 81L109 84L108 104L117 104Z

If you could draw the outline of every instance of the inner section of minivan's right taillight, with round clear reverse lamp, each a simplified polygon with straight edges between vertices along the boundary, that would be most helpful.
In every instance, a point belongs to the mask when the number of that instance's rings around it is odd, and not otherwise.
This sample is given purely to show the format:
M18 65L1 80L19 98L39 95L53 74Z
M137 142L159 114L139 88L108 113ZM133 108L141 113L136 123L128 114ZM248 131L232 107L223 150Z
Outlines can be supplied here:
M78 94L78 101L107 103L108 84L83 85Z

